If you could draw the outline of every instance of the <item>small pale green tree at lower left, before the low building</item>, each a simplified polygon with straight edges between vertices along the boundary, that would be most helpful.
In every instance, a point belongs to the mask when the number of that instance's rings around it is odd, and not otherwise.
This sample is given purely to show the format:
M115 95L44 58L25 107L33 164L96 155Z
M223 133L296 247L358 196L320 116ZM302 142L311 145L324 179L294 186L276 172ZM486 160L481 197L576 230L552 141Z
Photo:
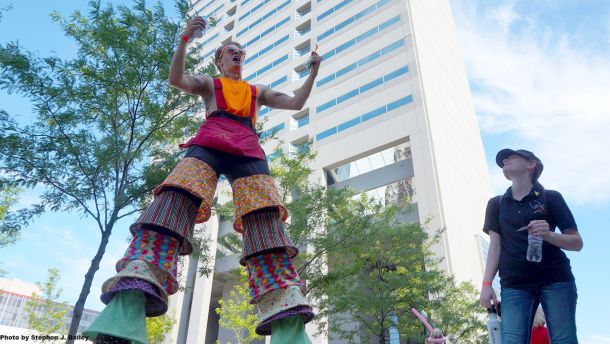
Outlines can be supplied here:
M25 305L28 327L40 335L66 334L65 316L70 307L65 302L57 302L62 292L61 288L57 287L61 278L59 270L50 268L48 271L47 280L44 283L36 283L42 291L42 295L33 293L32 298ZM58 343L59 341L50 342Z

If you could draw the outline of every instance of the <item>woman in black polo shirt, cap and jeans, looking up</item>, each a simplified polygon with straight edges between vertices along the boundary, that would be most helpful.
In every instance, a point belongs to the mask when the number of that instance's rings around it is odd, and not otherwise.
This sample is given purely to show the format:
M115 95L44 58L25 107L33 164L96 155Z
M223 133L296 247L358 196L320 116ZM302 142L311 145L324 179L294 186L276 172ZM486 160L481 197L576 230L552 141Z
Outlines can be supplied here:
M483 231L489 234L490 245L481 305L497 304L491 281L499 270L503 344L529 343L540 303L551 343L578 343L576 284L570 260L562 251L582 249L574 217L559 192L545 190L538 183L544 166L532 152L503 149L496 155L496 163L512 185L487 204ZM528 232L543 240L539 263L526 259Z

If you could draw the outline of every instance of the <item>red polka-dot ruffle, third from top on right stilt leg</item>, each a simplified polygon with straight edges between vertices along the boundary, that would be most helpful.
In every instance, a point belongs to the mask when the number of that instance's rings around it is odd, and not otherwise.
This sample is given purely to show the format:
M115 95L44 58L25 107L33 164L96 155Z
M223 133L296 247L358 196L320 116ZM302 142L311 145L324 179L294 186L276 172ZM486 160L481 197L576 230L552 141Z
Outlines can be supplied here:
M258 303L261 296L276 289L304 285L294 270L292 259L288 257L286 252L266 253L252 257L248 259L246 266L250 287L250 303Z

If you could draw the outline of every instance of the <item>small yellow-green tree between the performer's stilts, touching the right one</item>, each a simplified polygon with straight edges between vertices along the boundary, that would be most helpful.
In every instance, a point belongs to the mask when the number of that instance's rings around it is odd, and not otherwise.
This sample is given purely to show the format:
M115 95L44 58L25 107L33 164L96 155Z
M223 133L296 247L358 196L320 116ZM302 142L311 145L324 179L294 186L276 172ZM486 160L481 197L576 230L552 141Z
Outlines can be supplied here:
M218 300L220 307L215 309L216 314L220 316L220 326L233 332L237 344L247 344L263 338L254 331L258 322L255 306L248 302L249 299L248 273L246 269L240 267L239 282L227 299ZM227 344L231 343L227 342Z

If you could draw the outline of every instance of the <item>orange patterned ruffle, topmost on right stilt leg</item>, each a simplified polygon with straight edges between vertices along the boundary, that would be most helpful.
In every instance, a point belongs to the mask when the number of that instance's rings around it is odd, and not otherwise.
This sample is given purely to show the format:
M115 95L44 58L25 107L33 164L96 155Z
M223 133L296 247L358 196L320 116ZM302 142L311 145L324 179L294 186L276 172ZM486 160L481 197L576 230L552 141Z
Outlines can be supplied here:
M278 208L282 221L288 218L288 211L282 205L280 195L272 176L257 174L236 179L231 185L235 222L233 228L243 233L242 216L263 208Z

